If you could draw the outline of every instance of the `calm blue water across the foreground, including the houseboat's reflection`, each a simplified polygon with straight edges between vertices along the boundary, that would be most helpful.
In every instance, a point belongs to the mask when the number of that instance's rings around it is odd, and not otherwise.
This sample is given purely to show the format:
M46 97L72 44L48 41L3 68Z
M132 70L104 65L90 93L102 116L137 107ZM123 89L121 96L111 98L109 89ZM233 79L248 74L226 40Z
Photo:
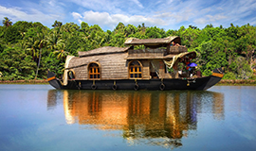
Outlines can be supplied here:
M256 150L256 87L57 91L0 85L0 150Z

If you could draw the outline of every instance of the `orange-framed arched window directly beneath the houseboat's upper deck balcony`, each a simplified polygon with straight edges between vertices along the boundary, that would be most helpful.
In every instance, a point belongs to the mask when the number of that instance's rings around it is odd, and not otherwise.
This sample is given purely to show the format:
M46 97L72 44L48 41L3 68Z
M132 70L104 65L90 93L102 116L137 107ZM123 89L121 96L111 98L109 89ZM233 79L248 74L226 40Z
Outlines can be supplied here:
M142 78L142 65L138 60L133 60L129 63L129 77Z

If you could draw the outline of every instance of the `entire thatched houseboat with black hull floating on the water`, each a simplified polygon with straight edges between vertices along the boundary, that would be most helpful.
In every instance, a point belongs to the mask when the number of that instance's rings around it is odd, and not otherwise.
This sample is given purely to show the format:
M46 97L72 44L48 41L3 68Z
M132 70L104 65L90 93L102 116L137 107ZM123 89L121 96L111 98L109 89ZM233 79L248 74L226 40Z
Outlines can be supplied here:
M191 62L196 53L188 52L177 36L124 43L127 47L104 46L68 56L63 79L48 71L49 84L64 90L207 90L224 76L224 68L201 76Z

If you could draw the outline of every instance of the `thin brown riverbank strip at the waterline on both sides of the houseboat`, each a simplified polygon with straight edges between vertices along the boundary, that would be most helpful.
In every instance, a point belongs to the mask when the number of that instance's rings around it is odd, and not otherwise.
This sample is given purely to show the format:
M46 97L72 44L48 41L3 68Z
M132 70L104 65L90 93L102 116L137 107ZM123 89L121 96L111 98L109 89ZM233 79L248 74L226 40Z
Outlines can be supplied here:
M39 80L6 80L0 81L0 84L48 84L46 79ZM255 79L222 79L216 85L255 85Z

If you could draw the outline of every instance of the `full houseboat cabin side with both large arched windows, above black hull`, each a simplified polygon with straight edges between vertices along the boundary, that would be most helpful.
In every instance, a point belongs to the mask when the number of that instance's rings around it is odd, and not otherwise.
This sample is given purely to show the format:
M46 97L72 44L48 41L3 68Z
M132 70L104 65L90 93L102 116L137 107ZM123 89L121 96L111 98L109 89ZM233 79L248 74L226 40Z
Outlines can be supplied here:
M163 59L127 59L127 57L128 53L120 53L74 58L70 60L68 70L73 72L75 80L176 77L176 75L173 76L168 73Z

